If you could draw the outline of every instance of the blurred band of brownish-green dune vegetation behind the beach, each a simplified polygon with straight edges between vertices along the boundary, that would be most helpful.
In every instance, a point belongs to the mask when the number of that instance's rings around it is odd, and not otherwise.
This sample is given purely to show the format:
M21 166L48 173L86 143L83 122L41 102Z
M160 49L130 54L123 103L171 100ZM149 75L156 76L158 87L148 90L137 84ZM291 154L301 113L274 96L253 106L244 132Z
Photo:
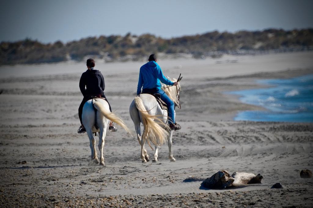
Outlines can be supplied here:
M194 58L220 57L222 54L257 54L268 51L303 51L313 49L313 29L284 31L212 31L201 35L163 39L151 34L141 36L88 37L64 44L43 44L29 38L0 43L0 65L52 63L83 60L86 56L105 61L147 59L151 53L191 54Z

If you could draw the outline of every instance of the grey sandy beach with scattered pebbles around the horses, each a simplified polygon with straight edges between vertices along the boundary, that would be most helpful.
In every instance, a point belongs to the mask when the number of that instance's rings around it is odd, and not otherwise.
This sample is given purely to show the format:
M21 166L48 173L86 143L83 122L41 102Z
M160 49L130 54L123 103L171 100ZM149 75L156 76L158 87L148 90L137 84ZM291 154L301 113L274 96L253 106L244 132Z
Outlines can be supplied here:
M0 72L0 202L3 207L312 207L312 123L233 121L243 104L231 90L266 87L258 79L313 73L312 52L219 59L159 60L170 77L182 73L182 109L159 161L141 163L140 146L121 128L107 133L105 166L90 165L89 139L77 134L85 63L2 66ZM133 130L128 108L142 62L96 63L106 96ZM147 149L150 157L153 151ZM201 181L218 170L261 173L261 185L208 190ZM283 189L270 189L276 182Z

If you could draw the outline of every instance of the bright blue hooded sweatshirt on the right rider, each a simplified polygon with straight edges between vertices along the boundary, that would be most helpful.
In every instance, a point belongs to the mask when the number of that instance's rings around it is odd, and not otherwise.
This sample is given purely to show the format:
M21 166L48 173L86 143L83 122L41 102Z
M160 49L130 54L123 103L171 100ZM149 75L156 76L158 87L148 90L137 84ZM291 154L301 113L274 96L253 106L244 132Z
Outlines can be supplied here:
M162 73L161 67L155 62L150 61L140 67L139 80L137 86L137 95L141 93L142 89L161 89L160 81L166 85L173 85L174 82L168 80Z

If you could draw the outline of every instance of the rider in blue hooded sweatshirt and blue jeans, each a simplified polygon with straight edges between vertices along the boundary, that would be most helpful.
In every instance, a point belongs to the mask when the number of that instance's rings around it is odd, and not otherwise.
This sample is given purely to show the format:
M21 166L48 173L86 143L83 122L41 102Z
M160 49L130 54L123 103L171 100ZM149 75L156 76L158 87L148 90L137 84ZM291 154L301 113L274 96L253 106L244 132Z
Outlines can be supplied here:
M178 83L172 82L163 75L161 67L156 63L156 60L157 60L156 55L151 54L149 56L149 62L140 67L137 95L141 93L141 87L142 93L161 94L161 99L167 104L169 126L172 130L179 130L182 127L178 123L175 123L174 118L175 104L161 89L160 81L166 85L174 86L178 85Z

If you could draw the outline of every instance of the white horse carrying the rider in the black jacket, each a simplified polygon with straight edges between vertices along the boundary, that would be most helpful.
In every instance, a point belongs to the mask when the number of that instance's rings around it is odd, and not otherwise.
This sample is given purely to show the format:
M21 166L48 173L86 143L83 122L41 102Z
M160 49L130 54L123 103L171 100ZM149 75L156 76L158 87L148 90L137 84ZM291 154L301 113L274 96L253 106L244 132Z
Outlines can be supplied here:
M97 111L95 111L95 109ZM103 147L104 147L104 139L106 135L106 128L110 121L113 121L120 125L122 128L126 130L126 132L131 134L129 128L125 125L122 119L117 117L114 113L110 112L109 104L105 99L96 98L88 100L83 107L82 114L82 122L86 128L86 132L90 141L90 149L91 149L91 161L93 163L98 163L97 151L95 146L95 138L93 133L98 132L99 136L99 151L100 151L100 165L104 165L104 157L103 157ZM99 127L99 129L95 128L95 124Z

